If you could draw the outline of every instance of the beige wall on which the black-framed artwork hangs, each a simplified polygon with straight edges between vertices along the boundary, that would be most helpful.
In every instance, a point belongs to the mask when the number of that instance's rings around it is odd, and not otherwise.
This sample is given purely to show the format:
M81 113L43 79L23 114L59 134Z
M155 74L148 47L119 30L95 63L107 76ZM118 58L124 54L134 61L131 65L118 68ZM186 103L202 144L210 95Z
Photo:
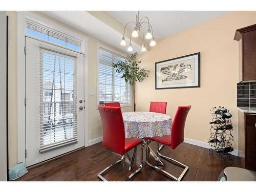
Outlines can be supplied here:
M151 74L136 84L137 111L148 111L150 101L167 101L167 114L174 117L177 106L191 104L185 138L206 142L211 107L225 106L232 114L237 148L238 42L233 36L236 29L255 23L256 11L231 12L157 41L139 57ZM196 52L201 52L200 88L155 90L155 62Z

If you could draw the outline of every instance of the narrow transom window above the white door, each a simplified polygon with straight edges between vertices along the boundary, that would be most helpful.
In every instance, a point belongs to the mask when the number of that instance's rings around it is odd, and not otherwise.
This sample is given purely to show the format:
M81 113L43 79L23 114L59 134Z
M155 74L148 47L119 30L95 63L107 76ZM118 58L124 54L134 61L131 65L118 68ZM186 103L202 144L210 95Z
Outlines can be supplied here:
M53 42L76 51L81 51L81 43L57 32L49 31L43 27L27 23L26 33L33 37Z

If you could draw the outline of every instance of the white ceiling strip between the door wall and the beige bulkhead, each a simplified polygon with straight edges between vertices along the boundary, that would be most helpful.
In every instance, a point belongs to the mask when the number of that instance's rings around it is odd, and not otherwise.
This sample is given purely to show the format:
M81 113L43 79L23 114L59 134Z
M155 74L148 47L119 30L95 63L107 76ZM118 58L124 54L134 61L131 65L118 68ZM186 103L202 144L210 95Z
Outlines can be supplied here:
M99 39L123 52L127 51L127 46L120 46L122 34L111 28L109 25L101 22L86 11L39 11L40 13L56 19L58 22L73 27L94 38ZM140 52L141 47L132 41L133 52Z

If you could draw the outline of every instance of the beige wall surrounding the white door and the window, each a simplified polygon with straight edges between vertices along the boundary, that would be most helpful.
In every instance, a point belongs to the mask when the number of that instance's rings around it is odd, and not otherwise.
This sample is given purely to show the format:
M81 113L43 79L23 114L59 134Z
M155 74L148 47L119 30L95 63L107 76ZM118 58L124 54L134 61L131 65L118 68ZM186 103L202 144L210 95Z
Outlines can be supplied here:
M34 12L36 13L36 12ZM38 13L37 13L38 14ZM17 14L15 11L7 11L9 15L9 167L17 163ZM38 14L43 16L41 14ZM44 16L46 17L46 16ZM46 17L48 18L48 17ZM54 22L55 20L48 18ZM64 24L56 22L59 25L72 29ZM74 29L72 29L74 30ZM86 35L89 38L88 41L88 79L89 79L89 92L97 92L97 45L103 45L106 48L116 50L110 45L106 45L103 42L90 37L87 34L74 30L75 32ZM116 50L121 52L119 50ZM122 53L122 52L121 52ZM125 53L123 53L125 55ZM96 98L89 98L89 141L102 136L101 121L99 112L96 110ZM122 108L122 111L132 111L132 107Z

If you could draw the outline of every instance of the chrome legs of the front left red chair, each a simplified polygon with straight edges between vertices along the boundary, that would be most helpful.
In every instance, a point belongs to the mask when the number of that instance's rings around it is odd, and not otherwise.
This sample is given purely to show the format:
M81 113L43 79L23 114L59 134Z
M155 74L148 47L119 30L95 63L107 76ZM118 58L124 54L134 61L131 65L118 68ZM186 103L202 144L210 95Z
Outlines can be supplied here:
M134 175L136 175L142 168L142 165L143 165L143 146L144 144L141 144L141 156L140 156L140 165L139 165L139 168L134 172L132 173L125 181L129 181ZM134 159L135 159L135 155L136 155L136 151L137 151L137 146L134 147L134 152L133 152L133 157L131 159L131 163L130 163L130 166L129 166L129 170L132 169L133 167L133 163L134 163ZM102 170L102 172L100 172L97 176L102 180L102 181L108 181L106 180L102 175L107 172L111 167L113 167L114 165L120 163L122 160L124 159L124 155L122 156L122 158L118 161L116 161L114 164L111 164L110 166L106 167L104 170Z

